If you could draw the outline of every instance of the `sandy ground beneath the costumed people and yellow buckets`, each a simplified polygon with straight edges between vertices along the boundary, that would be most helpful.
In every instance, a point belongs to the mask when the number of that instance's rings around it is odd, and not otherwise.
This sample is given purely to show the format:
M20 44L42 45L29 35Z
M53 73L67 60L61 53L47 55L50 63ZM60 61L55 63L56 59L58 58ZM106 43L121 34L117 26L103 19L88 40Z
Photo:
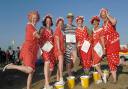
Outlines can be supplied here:
M77 67L77 79L74 89L82 89L79 76L83 74L80 67ZM5 72L0 71L0 89L25 89L27 75L17 70L7 70ZM64 78L66 81L66 72L64 72ZM51 84L56 81L55 73L51 77ZM95 84L93 79L90 78L90 85L88 89L128 89L128 67L120 66L118 68L118 82L112 84L112 78L110 76L106 84ZM38 66L33 78L32 89L43 89L44 76L42 72L42 65ZM65 89L68 89L65 84Z

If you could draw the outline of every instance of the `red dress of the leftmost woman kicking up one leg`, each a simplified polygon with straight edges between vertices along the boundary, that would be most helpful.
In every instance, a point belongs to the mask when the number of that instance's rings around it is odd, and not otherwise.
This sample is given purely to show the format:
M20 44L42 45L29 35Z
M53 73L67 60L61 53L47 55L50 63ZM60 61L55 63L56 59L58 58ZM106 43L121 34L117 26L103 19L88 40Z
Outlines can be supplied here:
M23 43L20 52L20 59L23 61L23 64L32 67L33 69L35 69L35 62L39 48L38 40L33 36L35 31L36 29L32 24L27 24L25 42Z

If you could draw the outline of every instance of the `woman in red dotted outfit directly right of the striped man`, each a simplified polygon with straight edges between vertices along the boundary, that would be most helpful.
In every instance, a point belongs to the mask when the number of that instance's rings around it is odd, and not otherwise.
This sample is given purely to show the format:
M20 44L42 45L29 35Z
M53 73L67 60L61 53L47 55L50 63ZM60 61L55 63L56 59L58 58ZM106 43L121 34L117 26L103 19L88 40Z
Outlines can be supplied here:
M79 56L81 58L83 69L88 74L91 68L91 62L92 62L91 61L91 46L89 47L87 52L84 52L83 50L81 50L82 45L85 40L87 40L90 43L90 37L87 32L88 29L87 27L83 26L83 22L84 22L83 16L78 16L76 18L76 23L77 23L76 41L77 41L78 53L80 54Z

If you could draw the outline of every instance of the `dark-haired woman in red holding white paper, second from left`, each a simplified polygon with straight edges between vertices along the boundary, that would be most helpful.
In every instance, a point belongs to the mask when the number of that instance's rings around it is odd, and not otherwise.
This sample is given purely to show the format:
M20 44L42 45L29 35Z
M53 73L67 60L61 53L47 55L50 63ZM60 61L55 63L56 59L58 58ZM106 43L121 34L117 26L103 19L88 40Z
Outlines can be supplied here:
M54 37L51 26L53 26L52 16L46 15L42 21L44 27L40 29L40 47L42 49L42 59L44 61L44 76L45 76L45 86L44 89L52 89L49 85L50 76L54 69L55 59L54 59ZM50 48L50 49L47 49Z

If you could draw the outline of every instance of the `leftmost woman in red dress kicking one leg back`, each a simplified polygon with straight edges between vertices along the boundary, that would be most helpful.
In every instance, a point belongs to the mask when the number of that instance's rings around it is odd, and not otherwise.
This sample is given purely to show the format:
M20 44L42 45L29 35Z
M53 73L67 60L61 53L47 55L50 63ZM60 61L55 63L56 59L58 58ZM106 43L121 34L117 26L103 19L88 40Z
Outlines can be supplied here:
M38 38L40 35L36 30L36 24L40 17L37 11L31 11L28 13L28 24L26 26L25 41L21 48L20 59L23 61L23 65L8 64L4 67L5 69L17 69L28 74L27 89L31 89L31 83L33 73L35 71L35 62L37 59L38 52Z

